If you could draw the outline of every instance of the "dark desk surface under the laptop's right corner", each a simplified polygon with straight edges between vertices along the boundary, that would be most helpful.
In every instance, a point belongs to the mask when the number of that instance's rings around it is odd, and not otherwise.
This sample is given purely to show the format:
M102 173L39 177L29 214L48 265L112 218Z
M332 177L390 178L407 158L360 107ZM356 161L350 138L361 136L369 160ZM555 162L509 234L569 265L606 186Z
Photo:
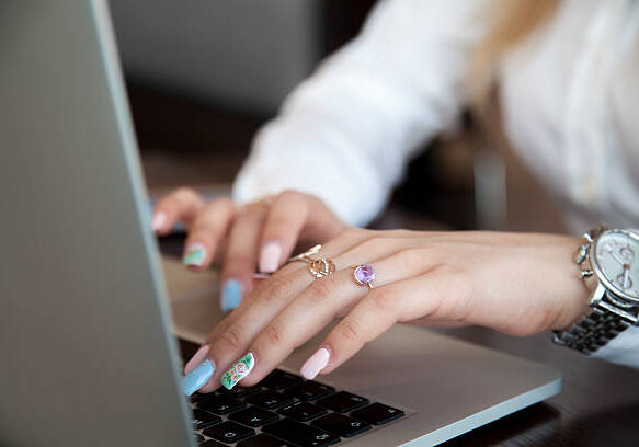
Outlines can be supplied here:
M398 222L397 216L386 221ZM182 239L161 241L180 254ZM634 446L639 444L639 371L554 345L549 334L512 337L483 328L441 333L555 366L564 378L558 397L445 444L453 446ZM185 357L196 345L181 342Z

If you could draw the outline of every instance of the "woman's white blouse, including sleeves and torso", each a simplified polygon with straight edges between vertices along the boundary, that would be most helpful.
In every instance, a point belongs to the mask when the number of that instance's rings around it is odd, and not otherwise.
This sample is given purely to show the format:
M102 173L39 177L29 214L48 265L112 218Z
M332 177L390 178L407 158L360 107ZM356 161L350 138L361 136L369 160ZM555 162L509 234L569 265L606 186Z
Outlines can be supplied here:
M490 0L385 0L258 134L240 203L295 188L362 226L467 103ZM639 1L563 0L498 67L504 128L574 233L639 222ZM630 355L630 353L635 353ZM639 366L639 329L598 356Z

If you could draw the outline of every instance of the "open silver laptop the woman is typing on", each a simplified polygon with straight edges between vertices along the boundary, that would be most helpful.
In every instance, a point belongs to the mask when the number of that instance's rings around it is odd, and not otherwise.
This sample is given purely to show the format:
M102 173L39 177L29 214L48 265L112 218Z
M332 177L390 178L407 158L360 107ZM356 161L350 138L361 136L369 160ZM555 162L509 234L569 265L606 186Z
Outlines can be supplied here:
M159 255L106 3L4 0L0 55L1 445L425 446L560 391L397 325L317 382L296 373L312 340L253 389L187 400L174 333L222 314Z

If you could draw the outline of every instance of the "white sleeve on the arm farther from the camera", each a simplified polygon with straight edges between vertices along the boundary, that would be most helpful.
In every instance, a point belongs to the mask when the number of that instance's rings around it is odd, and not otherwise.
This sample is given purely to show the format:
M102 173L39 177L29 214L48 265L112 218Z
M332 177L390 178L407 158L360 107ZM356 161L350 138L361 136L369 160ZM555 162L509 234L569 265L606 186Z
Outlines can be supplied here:
M233 186L251 202L295 188L365 225L409 157L455 123L486 0L385 0L260 130Z

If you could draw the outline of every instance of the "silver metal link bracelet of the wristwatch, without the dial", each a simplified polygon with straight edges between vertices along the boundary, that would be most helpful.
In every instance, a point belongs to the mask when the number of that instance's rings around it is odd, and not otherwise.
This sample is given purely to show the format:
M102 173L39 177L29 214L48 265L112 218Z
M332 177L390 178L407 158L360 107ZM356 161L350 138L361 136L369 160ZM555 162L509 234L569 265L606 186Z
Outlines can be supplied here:
M584 280L594 275L592 266L584 265L589 261L593 242L606 230L607 228L602 226L583 234L583 243L577 252L575 263L581 267L581 276ZM566 331L552 331L552 342L590 355L605 346L620 332L637 323L636 309L634 309L635 314L618 309L618 300L611 297L601 284L597 286L590 305L593 307L593 311L580 322Z

